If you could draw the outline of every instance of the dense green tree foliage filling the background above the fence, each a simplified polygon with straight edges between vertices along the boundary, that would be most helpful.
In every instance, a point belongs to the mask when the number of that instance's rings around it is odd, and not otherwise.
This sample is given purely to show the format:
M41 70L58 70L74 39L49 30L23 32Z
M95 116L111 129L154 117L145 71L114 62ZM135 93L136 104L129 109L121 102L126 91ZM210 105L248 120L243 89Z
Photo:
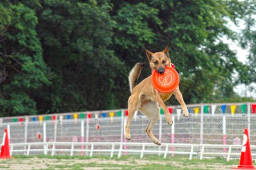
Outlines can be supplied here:
M246 19L242 46L253 43L255 6L237 0L1 1L0 69L8 79L0 84L0 114L125 108L130 69L147 62L144 48L157 52L167 44L187 104L251 101L233 88L255 81L255 65L238 62L221 37L241 38L227 24ZM146 67L141 79L148 75Z

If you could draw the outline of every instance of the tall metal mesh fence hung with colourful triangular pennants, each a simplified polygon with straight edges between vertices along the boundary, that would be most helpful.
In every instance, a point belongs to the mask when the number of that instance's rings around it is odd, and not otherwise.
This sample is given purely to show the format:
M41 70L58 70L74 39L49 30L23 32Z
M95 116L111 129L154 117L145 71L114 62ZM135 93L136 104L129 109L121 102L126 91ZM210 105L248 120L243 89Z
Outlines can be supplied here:
M162 143L240 145L244 128L256 145L255 104L225 103L187 105L190 116L183 117L180 106L169 106L172 126L164 115L153 133ZM151 142L145 129L146 116L135 114L131 141L125 140L126 109L65 114L0 117L0 139L8 128L10 143L29 142Z

